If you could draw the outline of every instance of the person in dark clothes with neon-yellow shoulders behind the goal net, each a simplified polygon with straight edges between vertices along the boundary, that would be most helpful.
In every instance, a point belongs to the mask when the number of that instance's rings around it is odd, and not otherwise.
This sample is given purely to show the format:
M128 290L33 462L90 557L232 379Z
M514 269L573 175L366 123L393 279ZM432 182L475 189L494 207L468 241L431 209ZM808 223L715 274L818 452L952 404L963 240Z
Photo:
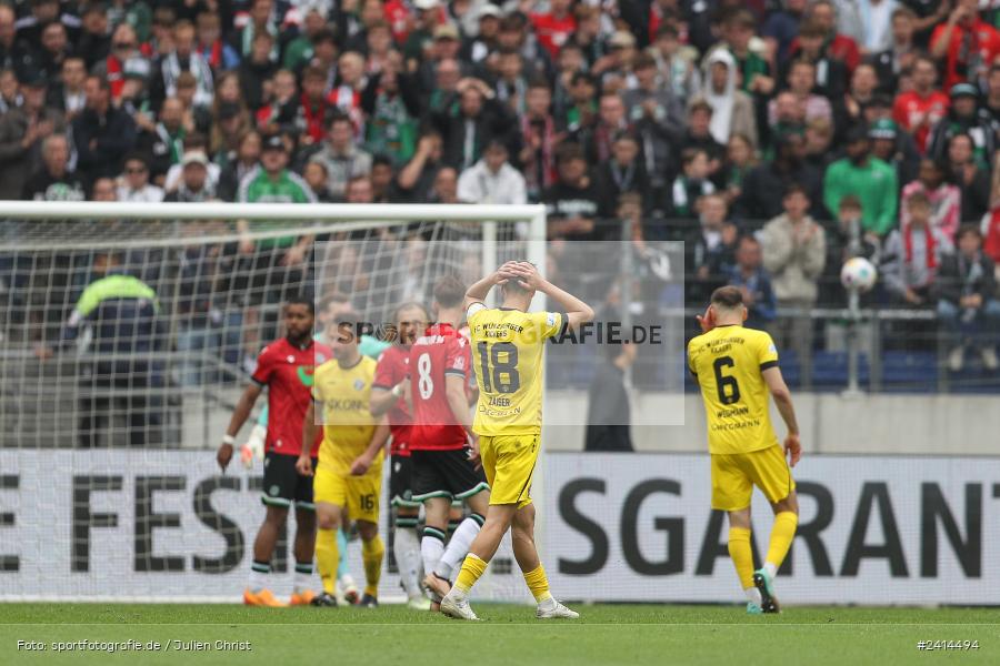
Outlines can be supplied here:
M150 394L163 387L166 326L157 294L123 271L117 253L96 256L93 272L99 278L83 290L54 349L42 343L36 354L49 359L90 332L90 360L78 377L79 447L114 445L119 415L129 446L162 444L162 397Z

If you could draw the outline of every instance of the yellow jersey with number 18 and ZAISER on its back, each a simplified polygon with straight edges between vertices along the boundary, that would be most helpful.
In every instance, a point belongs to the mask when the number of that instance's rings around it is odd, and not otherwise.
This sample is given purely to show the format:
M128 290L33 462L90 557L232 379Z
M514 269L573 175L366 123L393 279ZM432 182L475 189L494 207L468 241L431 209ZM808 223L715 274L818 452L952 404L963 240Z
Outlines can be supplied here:
M540 433L544 342L566 329L566 314L473 303L467 319L479 385L472 430L482 436Z

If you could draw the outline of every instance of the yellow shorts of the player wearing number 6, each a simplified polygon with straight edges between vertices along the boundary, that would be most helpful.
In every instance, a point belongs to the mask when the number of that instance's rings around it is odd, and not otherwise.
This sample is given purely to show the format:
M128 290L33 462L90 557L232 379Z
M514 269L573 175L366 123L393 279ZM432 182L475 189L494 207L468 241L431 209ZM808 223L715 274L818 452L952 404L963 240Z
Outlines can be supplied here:
M712 454L712 508L747 508L753 486L771 503L784 500L796 490L796 480L780 446L750 453Z

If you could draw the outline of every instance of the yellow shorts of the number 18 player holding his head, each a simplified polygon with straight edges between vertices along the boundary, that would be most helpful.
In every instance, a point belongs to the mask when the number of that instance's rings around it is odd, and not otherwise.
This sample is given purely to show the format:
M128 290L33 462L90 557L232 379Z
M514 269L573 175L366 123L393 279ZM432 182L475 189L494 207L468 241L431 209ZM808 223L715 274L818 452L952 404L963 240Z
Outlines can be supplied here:
M531 480L541 448L539 435L496 435L479 438L482 471L490 484L490 504L531 504Z

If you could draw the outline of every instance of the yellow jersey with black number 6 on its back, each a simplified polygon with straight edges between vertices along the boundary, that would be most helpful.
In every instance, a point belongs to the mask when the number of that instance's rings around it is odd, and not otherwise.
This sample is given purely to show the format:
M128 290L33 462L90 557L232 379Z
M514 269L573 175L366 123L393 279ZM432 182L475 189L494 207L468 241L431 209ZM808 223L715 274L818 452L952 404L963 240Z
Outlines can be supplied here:
M778 365L763 331L716 326L688 343L688 367L701 386L709 452L749 453L778 443L762 372Z

